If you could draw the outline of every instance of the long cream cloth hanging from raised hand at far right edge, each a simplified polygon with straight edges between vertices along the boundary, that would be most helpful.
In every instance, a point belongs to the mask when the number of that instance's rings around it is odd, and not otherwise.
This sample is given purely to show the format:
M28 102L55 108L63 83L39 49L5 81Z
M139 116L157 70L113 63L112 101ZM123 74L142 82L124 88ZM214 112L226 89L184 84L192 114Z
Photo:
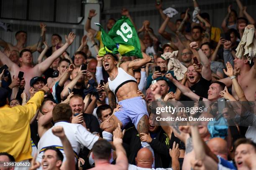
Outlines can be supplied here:
M244 53L243 53L244 52ZM244 29L243 37L236 48L236 56L242 58L243 55L247 56L247 60L251 63L253 57L256 56L256 39L254 38L254 29Z

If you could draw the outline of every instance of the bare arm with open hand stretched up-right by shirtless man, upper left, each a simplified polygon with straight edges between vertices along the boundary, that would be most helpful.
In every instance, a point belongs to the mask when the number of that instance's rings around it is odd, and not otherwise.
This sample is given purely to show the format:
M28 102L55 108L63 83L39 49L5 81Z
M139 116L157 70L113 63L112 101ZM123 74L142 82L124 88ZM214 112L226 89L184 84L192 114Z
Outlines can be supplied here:
M58 58L63 52L65 52L65 50L67 50L69 45L71 45L74 41L75 37L76 35L74 34L74 32L70 32L68 36L66 35L66 43L58 50L56 50L50 57L38 64L38 71L41 72L41 74L45 72L51 66L54 60Z

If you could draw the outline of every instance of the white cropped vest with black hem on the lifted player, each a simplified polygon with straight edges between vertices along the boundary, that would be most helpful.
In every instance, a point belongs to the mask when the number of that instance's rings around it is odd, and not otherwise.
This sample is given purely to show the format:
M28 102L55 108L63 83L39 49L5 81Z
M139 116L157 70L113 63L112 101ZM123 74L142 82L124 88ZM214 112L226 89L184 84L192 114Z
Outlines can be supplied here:
M120 67L118 67L118 75L115 77L114 80L111 81L108 77L108 86L114 94L116 94L118 89L127 82L137 83L136 79L133 76L129 75Z

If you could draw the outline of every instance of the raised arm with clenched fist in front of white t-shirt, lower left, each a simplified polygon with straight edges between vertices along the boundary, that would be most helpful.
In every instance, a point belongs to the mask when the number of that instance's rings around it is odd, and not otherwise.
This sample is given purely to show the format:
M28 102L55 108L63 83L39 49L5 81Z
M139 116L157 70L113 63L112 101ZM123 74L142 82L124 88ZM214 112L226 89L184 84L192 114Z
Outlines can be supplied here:
M69 143L69 140L67 138L67 136L64 133L64 129L61 126L55 126L54 128L52 128L52 133L59 137L59 139L61 140L61 143L63 145L63 150L64 153L66 155L66 161L64 162L63 165L61 165L61 167L64 166L64 169L66 170L75 170L75 155L74 155L74 151L73 148L71 146L71 144Z

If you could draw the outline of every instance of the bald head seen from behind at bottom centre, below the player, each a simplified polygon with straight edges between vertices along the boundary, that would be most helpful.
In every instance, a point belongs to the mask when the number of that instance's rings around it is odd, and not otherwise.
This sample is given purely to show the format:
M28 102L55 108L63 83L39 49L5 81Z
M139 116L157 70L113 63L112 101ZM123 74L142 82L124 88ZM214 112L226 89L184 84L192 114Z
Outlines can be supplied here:
M141 148L137 153L136 163L141 168L152 168L153 155L148 148Z

